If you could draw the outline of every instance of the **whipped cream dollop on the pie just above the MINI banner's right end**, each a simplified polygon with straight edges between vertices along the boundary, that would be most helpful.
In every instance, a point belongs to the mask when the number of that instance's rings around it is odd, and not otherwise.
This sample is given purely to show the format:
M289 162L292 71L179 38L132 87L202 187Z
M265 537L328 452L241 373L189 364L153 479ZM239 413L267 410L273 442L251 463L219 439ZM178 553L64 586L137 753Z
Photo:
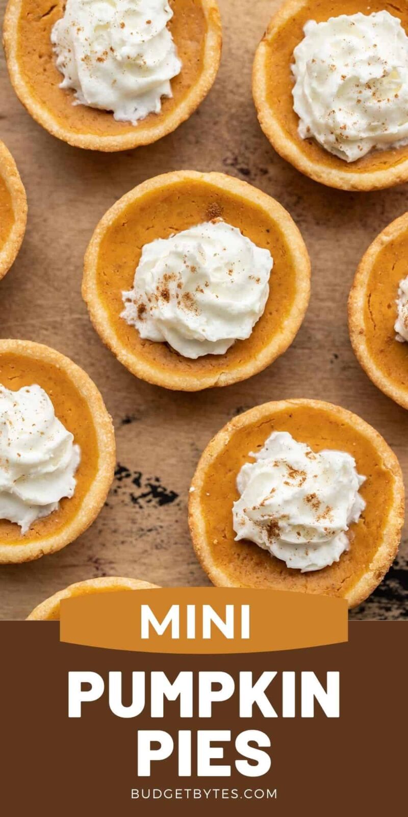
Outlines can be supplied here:
M274 431L250 456L255 462L237 476L235 538L250 539L302 573L339 561L349 548L348 526L366 507L358 493L366 477L353 457L314 453L287 431Z

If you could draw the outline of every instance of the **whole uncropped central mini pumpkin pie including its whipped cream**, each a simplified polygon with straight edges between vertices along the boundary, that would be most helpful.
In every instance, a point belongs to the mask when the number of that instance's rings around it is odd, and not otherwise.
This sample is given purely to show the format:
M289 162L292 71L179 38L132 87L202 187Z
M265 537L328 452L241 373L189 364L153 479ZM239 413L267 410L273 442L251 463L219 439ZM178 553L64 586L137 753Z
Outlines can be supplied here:
M221 173L145 181L104 215L82 295L131 373L198 391L260 372L304 318L310 263L290 215Z

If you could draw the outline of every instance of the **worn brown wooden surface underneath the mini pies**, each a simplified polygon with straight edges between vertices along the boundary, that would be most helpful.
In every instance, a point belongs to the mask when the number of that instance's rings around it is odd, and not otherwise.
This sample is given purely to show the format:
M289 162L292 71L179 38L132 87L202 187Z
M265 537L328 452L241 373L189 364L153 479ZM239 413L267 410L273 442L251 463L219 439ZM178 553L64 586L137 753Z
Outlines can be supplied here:
M2 56L0 138L29 199L20 256L0 285L0 333L54 346L86 369L113 416L118 472L98 520L60 553L0 569L0 618L24 618L38 602L84 578L118 574L163 585L202 585L188 536L188 486L197 458L230 417L267 400L315 397L343 405L384 435L408 478L408 413L362 372L348 340L348 290L362 252L408 207L403 187L348 194L309 181L274 153L251 98L255 47L279 0L220 0L224 50L210 95L166 139L122 154L57 141L17 100ZM4 0L1 0L3 11ZM138 381L105 349L81 298L82 259L96 222L149 176L218 170L274 196L299 225L312 258L308 315L294 344L251 380L197 395ZM406 618L408 547L353 618Z

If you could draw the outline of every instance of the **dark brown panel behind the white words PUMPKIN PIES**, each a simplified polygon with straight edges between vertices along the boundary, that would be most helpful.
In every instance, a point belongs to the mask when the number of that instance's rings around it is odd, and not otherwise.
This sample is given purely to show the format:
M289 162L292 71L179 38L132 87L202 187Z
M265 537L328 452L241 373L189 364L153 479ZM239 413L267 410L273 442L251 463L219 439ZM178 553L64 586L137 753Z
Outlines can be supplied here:
M2 701L2 786L4 817L313 817L388 815L406 803L406 636L408 624L351 621L347 644L241 655L159 655L95 650L59 641L58 622L0 622ZM150 712L150 677L170 681L193 672L228 672L238 690L242 672L258 678L277 671L268 691L278 717L265 718L258 706L251 719L239 717L239 699L215 704L213 718L180 715L180 699L166 702L164 719ZM68 717L68 677L89 670L103 678L100 699L83 705L81 718ZM132 672L146 673L146 706L140 716L122 718L109 707L109 673L122 672L123 700L132 700ZM315 672L323 685L329 670L340 674L340 717L301 717L302 672ZM282 673L295 672L296 717L282 716ZM276 688L275 688L276 686ZM151 778L137 775L140 730L166 730L175 751L153 764ZM178 776L179 730L231 730L219 743L231 776ZM235 740L242 730L268 734L271 768L259 778L235 766ZM277 789L277 798L268 791ZM132 790L139 790L135 800Z

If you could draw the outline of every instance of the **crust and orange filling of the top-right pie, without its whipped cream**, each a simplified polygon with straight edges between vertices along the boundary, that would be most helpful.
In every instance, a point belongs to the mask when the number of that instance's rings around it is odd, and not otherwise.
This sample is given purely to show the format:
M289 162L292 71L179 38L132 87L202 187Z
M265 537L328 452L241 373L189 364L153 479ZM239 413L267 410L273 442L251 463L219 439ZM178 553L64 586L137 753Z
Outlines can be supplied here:
M287 0L273 16L255 54L252 91L260 126L277 153L306 176L341 190L380 190L408 179L408 146L371 151L347 163L314 139L301 139L293 109L293 51L308 20L323 22L339 14L389 11L408 31L408 5L373 0Z

